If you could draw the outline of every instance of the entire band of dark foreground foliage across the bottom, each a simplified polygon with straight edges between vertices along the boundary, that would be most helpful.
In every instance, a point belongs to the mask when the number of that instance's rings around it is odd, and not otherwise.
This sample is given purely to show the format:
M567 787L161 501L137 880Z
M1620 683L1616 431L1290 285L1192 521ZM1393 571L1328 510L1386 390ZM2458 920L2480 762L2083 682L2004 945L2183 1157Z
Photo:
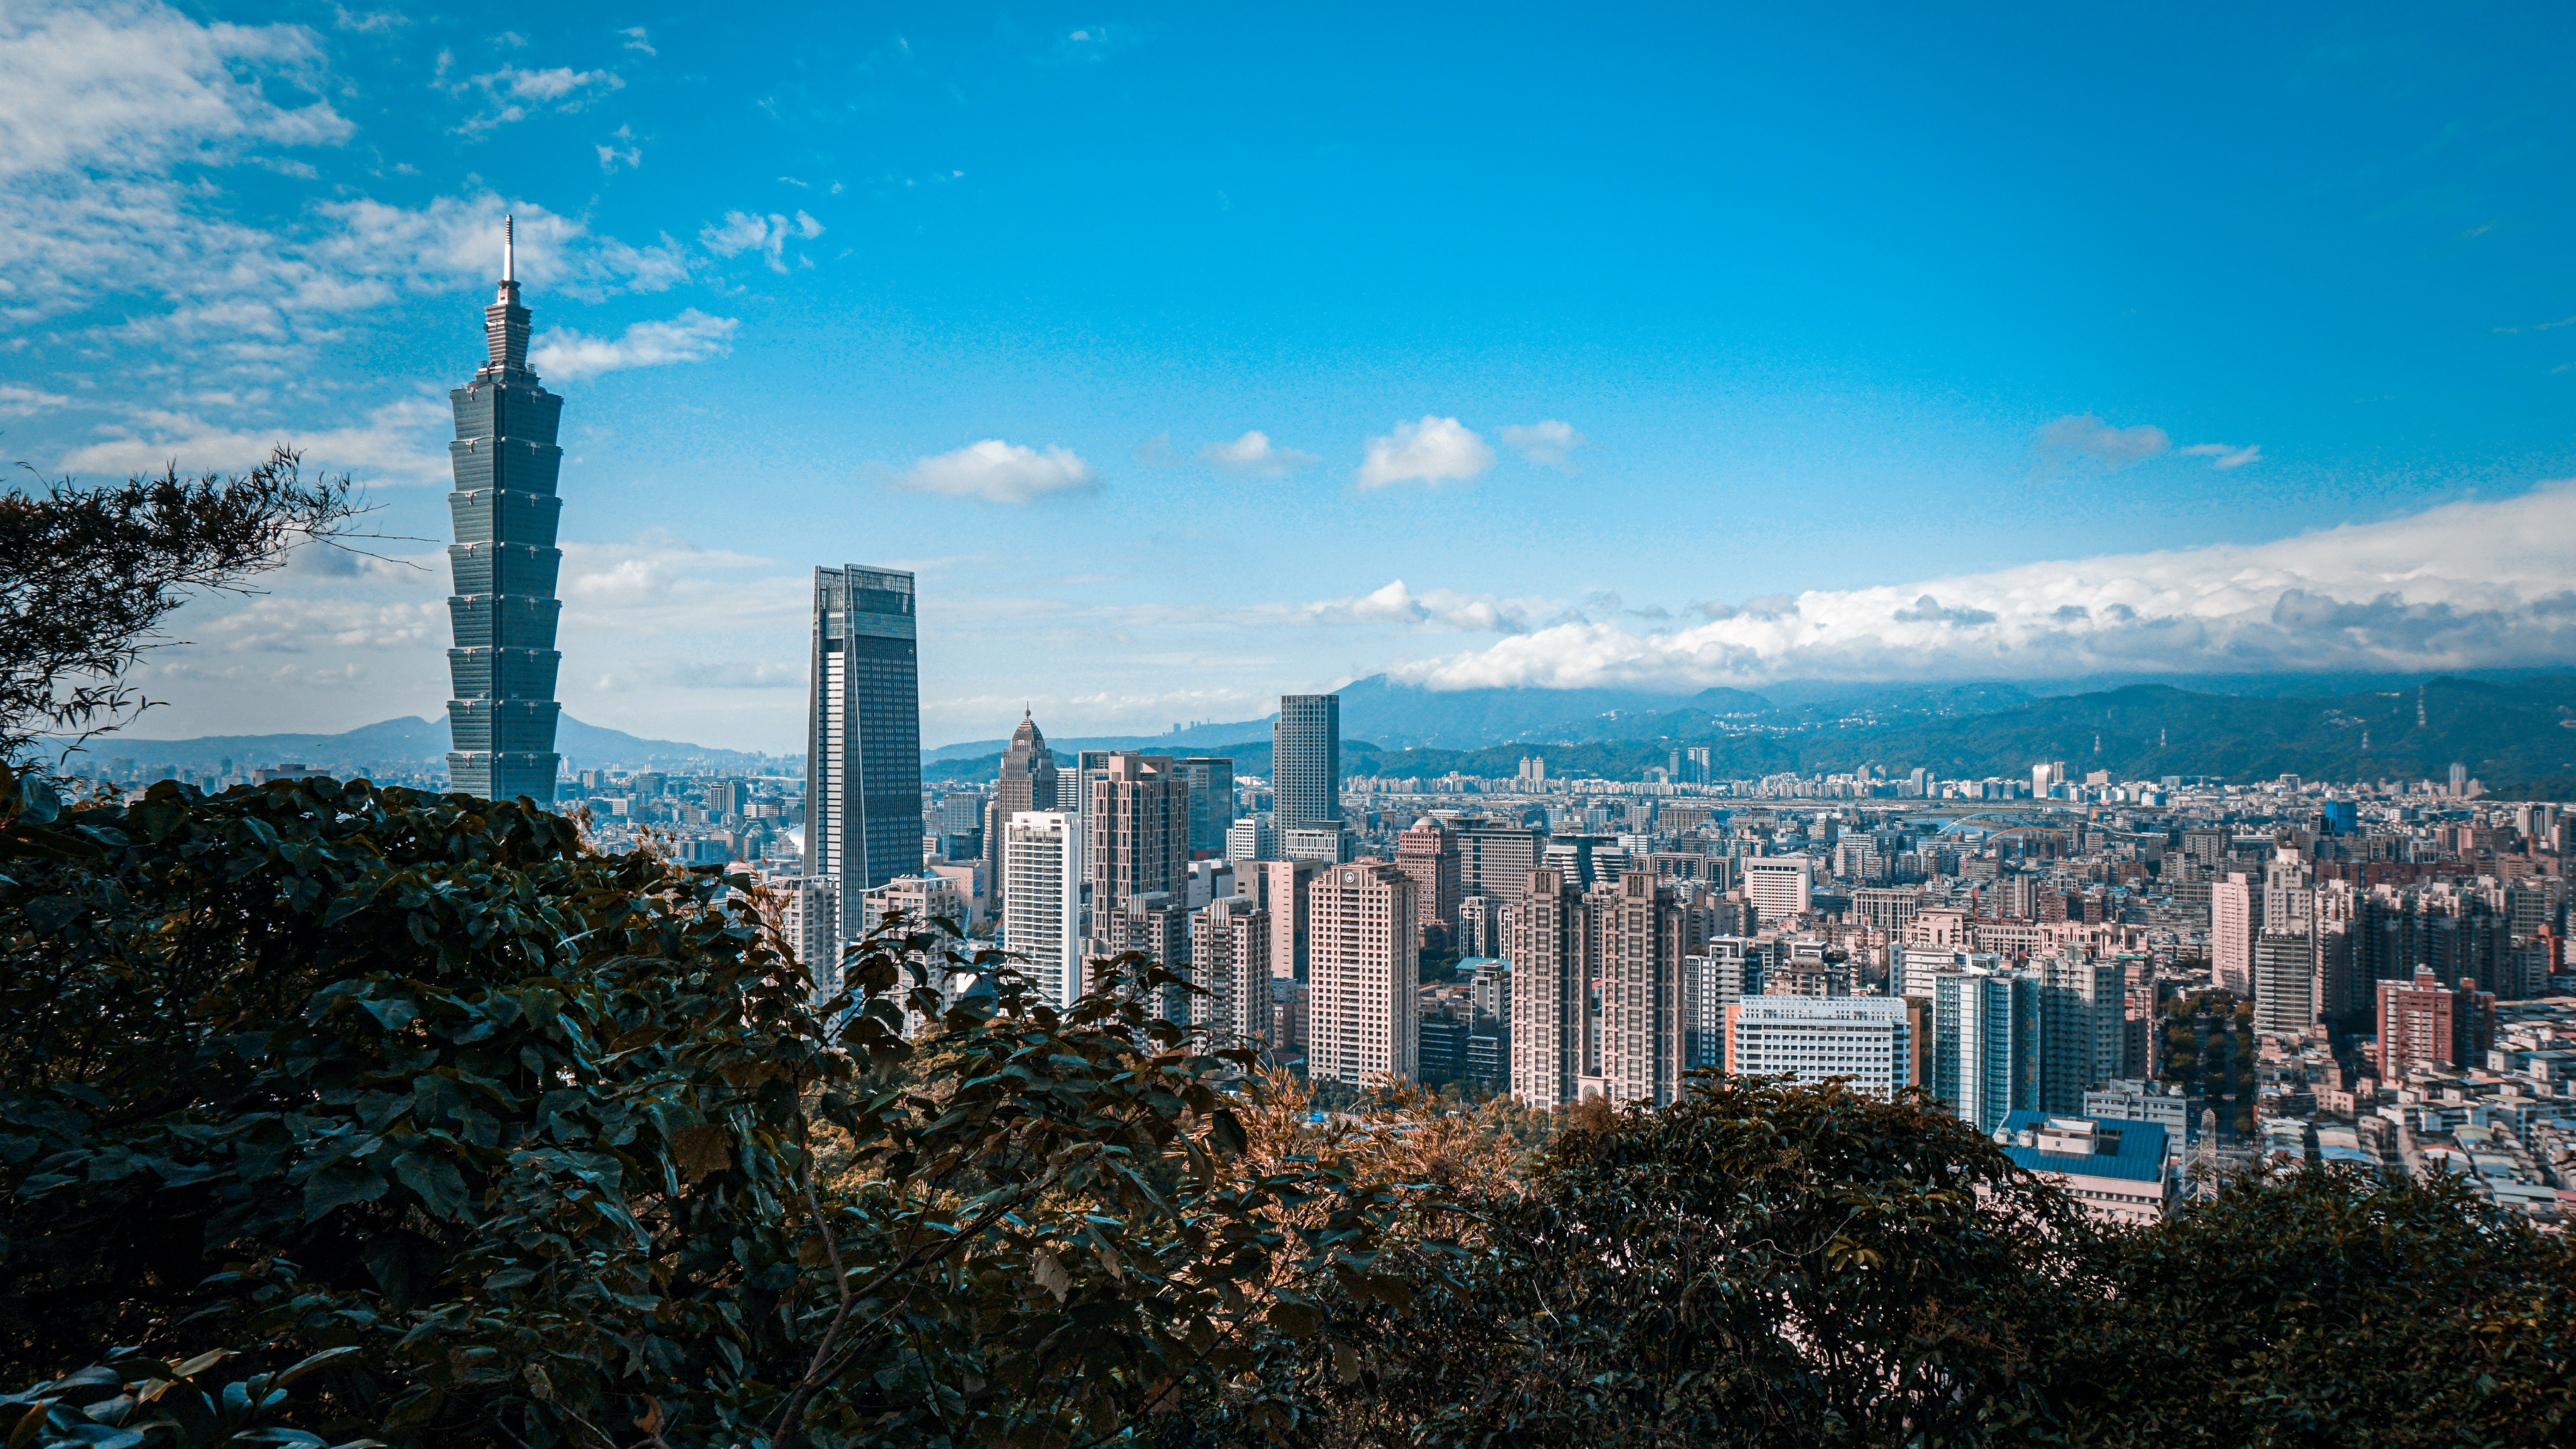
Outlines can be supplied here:
M0 792L0 1356L36 1385L0 1431L33 1444L2576 1434L2576 1258L2447 1181L2311 1168L2105 1232L1832 1085L1314 1124L1146 1018L1149 969L1054 1013L904 931L817 1006L757 900L528 807ZM956 969L987 987L927 990Z

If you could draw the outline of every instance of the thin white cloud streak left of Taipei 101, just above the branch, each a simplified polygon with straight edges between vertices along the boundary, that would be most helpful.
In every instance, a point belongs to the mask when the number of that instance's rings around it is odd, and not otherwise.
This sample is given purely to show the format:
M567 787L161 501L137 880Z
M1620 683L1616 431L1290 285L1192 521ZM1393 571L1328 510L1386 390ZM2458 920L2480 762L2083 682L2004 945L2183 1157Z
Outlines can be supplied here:
M348 428L219 428L188 413L144 413L116 436L72 449L62 472L142 474L178 464L188 472L224 472L258 464L286 443L304 451L307 469L350 472L358 482L446 482L443 433L453 428L443 402L410 397L389 402Z

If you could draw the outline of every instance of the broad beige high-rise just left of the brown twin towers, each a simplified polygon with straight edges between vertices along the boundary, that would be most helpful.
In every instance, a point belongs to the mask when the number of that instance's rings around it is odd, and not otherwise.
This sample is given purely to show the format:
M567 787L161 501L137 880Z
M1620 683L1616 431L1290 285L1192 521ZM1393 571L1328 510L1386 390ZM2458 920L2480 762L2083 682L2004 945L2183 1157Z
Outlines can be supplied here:
M1306 890L1306 1075L1363 1085L1414 1080L1414 879L1365 859L1314 874Z

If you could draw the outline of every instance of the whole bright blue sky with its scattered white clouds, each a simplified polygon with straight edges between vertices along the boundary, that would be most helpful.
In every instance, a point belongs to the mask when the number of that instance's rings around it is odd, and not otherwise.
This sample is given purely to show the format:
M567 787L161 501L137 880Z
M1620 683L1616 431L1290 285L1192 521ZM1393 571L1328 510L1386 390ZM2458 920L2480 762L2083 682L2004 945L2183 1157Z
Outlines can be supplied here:
M381 505L147 732L435 714L510 209L647 735L801 743L817 562L922 572L933 743L2576 660L2576 13L2074 10L18 0L0 451Z

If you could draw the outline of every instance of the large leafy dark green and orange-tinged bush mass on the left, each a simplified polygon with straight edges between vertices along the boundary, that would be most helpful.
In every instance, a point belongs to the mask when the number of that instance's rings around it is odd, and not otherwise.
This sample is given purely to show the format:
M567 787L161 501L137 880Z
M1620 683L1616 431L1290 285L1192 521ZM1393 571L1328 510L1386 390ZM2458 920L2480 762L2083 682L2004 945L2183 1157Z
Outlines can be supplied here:
M1139 962L1054 1011L894 923L817 1000L747 882L523 804L5 784L18 1382L345 1348L296 1385L332 1439L1069 1449L1378 1284L1388 1194L1244 1171L1244 1060Z

